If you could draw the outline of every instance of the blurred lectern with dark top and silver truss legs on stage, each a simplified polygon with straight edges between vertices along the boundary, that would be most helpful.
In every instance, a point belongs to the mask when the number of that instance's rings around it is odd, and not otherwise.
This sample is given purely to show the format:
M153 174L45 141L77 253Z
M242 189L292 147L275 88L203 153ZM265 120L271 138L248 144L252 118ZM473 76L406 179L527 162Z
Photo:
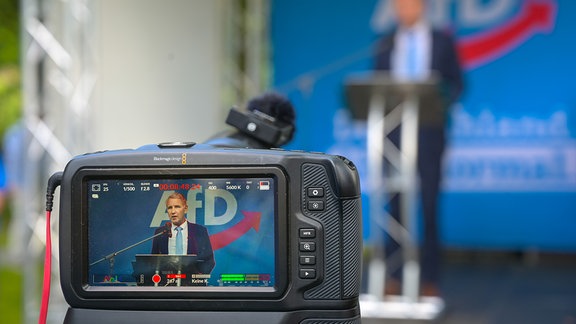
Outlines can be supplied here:
M383 318L434 320L444 308L441 298L419 296L420 264L415 226L419 197L418 128L440 124L444 118L443 98L436 80L403 82L387 73L346 80L346 98L352 116L367 121L371 229L368 245L373 253L368 268L368 294L362 296L360 304L363 323ZM401 141L396 146L387 135L400 126ZM401 222L385 210L389 198L396 194L400 195ZM399 242L402 249L401 296L383 295L387 260L382 230Z

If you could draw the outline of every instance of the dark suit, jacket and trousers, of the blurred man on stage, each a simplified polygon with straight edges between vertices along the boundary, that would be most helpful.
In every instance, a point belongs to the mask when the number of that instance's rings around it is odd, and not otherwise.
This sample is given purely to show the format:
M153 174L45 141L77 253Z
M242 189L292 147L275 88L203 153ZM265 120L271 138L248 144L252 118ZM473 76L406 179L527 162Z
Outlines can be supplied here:
M379 41L375 54L375 69L378 71L392 70L392 53L395 49L397 29ZM440 239L437 226L437 201L442 178L442 155L446 143L445 120L449 115L449 107L460 96L463 89L462 70L456 52L455 41L448 32L430 28L430 52L428 67L439 77L439 91L444 116L438 118L439 123L421 125L418 134L418 172L420 176L421 202L423 209L423 244L420 250L421 281L424 285L436 285L439 277ZM391 100L394 101L394 100ZM390 102L388 100L387 102ZM420 109L426 109L427 104L422 102ZM430 107L429 107L430 108ZM389 134L390 140L399 145L400 131L394 130ZM390 213L397 220L399 216L399 198L394 196L390 201ZM387 259L398 260L401 253L398 242L387 235L385 252ZM389 262L387 262L388 264ZM398 262L396 262L398 264ZM400 280L401 268L389 269L387 273L392 278Z

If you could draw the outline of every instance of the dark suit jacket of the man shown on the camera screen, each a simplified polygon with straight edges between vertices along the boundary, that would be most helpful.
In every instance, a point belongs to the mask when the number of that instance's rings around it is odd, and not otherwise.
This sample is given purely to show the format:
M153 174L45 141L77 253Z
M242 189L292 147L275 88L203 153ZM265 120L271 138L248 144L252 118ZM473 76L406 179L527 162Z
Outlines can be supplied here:
M154 231L154 234L158 234L165 229L166 226L160 226ZM154 238L150 253L168 254L168 234ZM204 226L188 222L188 249L186 254L196 254L198 259L203 261L198 264L200 273L210 273L214 268L214 252L210 244L208 230Z

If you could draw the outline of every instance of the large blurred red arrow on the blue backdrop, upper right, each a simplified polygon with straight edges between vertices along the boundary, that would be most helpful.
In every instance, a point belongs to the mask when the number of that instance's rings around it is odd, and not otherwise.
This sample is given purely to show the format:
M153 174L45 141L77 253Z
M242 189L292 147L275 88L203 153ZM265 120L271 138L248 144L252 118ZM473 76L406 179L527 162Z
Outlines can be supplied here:
M556 18L553 1L527 1L521 12L505 25L462 39L458 50L464 65L472 68L501 56L532 34L550 31Z

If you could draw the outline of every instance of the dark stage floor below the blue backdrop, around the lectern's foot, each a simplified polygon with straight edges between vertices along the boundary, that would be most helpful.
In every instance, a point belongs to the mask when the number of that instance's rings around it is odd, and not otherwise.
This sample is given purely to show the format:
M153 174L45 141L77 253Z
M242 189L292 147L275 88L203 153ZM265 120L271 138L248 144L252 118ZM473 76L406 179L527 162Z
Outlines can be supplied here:
M443 304L416 304L405 318L390 309L362 323L576 324L576 254L448 252L441 289ZM435 305L439 316L426 319Z

